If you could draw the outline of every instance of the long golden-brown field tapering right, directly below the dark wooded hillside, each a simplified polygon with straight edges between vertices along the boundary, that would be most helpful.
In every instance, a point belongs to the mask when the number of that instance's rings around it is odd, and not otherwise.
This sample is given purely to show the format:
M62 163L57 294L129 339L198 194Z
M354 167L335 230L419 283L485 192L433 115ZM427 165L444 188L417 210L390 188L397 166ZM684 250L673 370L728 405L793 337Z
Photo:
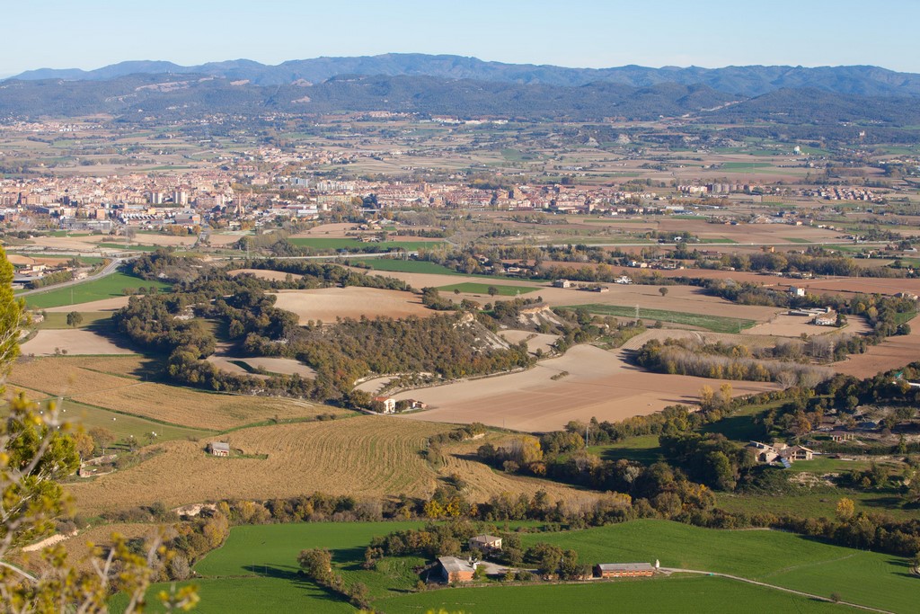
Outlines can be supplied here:
M209 393L152 383L87 391L74 394L73 399L165 423L218 431L275 417L308 418L331 410L301 400Z

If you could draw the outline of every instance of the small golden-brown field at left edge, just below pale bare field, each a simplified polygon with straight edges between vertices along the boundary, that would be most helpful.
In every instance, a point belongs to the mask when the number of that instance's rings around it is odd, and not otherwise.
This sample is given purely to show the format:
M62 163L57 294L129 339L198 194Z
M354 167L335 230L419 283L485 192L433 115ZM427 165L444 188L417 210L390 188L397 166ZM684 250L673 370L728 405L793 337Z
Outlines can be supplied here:
M91 392L115 390L134 386L133 375L140 358L69 358L47 357L18 362L9 375L9 382L23 388L40 390L52 397L68 397ZM124 361L124 362L121 362ZM90 368L86 368L86 367ZM109 373L124 374L109 375Z

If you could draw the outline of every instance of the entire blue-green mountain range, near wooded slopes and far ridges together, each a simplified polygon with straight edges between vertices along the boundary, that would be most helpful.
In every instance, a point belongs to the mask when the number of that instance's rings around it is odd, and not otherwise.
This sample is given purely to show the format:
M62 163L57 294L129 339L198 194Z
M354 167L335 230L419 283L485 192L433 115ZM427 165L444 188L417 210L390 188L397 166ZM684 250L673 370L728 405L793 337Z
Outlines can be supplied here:
M563 68L453 55L317 58L267 66L125 62L0 81L0 117L108 114L122 122L385 110L521 121L703 118L841 133L860 124L920 139L920 75L874 66ZM753 128L751 128L753 129ZM844 133L849 138L848 128Z

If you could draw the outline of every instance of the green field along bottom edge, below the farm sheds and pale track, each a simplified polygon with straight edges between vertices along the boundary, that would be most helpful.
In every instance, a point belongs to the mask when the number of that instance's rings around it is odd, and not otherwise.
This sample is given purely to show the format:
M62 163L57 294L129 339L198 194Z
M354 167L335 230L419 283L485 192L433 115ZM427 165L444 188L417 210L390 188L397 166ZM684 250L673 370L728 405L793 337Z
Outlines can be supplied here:
M853 611L769 588L714 576L594 582L582 585L489 586L448 588L375 601L387 614L402 612L736 612L738 604L757 604L757 611Z

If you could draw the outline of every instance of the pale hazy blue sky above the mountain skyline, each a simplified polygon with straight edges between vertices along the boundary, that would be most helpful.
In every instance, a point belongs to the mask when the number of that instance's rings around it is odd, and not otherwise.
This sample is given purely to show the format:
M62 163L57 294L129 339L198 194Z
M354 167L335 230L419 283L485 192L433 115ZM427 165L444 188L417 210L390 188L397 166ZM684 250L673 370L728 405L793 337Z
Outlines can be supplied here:
M0 75L123 60L265 64L455 53L565 66L876 64L920 72L920 1L31 0L4 3ZM11 6L10 6L11 5Z

